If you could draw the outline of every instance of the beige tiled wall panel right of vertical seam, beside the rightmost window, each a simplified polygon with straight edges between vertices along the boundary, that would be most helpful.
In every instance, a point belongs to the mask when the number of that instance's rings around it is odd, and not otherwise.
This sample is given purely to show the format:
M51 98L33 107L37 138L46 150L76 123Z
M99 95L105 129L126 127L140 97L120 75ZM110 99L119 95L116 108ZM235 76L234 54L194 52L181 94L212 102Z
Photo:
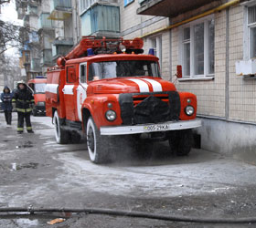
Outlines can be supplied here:
M244 8L229 11L229 119L256 121L256 79L236 75L235 63L243 58Z

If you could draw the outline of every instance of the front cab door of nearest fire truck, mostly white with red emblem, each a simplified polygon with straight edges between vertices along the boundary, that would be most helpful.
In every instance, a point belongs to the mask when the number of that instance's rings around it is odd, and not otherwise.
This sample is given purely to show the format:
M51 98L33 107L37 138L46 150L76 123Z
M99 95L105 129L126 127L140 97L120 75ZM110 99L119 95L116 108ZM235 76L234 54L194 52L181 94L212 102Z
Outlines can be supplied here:
M80 64L80 78L79 78L79 86L77 88L77 111L78 111L78 118L81 121L82 120L82 113L81 113L81 105L83 101L86 98L86 89L88 87L86 83L86 70L87 70L87 64L81 63Z

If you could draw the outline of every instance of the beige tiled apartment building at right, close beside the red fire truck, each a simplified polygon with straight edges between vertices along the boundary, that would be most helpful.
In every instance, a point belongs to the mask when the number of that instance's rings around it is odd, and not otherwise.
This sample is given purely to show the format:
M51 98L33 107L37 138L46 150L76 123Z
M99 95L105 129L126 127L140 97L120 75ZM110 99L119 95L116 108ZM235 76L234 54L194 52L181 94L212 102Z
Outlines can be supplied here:
M163 77L197 95L202 148L255 157L256 1L123 0L120 8L123 36L143 37Z

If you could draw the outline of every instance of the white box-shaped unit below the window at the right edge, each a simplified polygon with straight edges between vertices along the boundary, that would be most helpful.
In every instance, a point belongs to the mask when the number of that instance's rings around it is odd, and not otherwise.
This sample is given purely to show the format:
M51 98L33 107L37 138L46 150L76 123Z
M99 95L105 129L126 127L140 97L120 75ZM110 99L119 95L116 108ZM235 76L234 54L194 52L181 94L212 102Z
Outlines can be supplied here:
M256 59L237 61L236 74L239 76L256 75Z

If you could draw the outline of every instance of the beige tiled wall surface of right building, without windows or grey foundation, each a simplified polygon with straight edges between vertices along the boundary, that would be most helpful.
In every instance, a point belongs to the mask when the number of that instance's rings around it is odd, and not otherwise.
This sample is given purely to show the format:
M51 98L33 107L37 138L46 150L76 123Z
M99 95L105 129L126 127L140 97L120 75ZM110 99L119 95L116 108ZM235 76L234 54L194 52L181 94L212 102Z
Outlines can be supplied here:
M204 7L212 7L207 5ZM124 38L143 36L155 29L169 25L168 18L157 16L138 16L137 1L123 7L121 1L121 30ZM199 11L203 10L200 9ZM180 64L179 30L180 27L166 31L162 36L162 75L176 83L178 90L190 91L197 95L197 113L205 116L240 121L256 121L256 79L246 80L235 74L236 61L243 58L244 52L244 6L236 5L229 8L229 44L226 44L227 11L222 10L214 15L215 20L215 74L213 80L176 80L176 65ZM198 9L189 12L191 16L199 13ZM196 12L196 13L195 13ZM180 21L177 16L173 22ZM144 38L144 52L150 48L150 36ZM229 45L229 59L226 47ZM226 71L226 62L229 71ZM228 75L228 80L227 80ZM226 89L226 81L229 83Z

